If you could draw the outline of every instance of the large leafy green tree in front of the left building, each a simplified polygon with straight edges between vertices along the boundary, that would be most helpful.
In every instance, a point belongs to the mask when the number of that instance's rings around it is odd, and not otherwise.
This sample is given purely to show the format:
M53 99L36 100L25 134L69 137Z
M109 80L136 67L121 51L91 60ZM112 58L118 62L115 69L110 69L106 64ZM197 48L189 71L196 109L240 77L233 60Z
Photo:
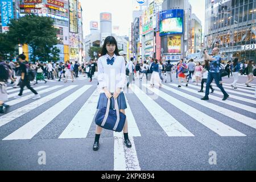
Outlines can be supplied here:
M39 55L47 58L46 53L57 44L57 29L53 27L53 22L50 17L27 14L18 20L12 19L7 34L12 42L30 46L32 61L36 61Z

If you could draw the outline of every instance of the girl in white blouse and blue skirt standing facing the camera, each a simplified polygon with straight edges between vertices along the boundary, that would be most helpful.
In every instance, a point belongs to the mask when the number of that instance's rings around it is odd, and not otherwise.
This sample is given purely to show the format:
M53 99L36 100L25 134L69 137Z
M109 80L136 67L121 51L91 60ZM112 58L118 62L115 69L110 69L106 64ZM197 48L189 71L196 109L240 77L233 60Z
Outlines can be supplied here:
M100 89L100 98L98 99L97 109L108 106L110 100L110 109L114 108L114 102L118 104L119 112L125 114L127 108L123 87L126 85L126 67L125 59L119 55L117 41L113 36L108 36L102 47L101 57L98 59L98 88ZM117 107L117 105L115 105ZM108 107L109 108L109 107ZM102 127L96 126L96 135L93 144L93 150L100 148L100 134ZM127 119L123 126L123 136L126 147L131 147L128 137Z

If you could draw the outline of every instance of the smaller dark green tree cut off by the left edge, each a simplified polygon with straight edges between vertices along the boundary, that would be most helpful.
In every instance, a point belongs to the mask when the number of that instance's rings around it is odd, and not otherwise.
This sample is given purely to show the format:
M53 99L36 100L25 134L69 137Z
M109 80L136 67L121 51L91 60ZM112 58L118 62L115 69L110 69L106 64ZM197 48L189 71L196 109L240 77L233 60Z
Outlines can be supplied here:
M15 52L15 43L11 42L6 33L0 34L0 57L4 60L12 60Z

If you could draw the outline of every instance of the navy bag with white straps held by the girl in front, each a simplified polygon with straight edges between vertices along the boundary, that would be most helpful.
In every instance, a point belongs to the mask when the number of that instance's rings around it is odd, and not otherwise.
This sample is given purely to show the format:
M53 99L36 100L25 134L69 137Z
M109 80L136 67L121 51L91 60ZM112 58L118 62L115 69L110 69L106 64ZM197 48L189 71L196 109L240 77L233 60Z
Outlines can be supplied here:
M106 129L121 132L125 125L126 115L119 112L117 99L114 98L114 108L110 109L110 98L106 107L102 107L95 118L96 125Z

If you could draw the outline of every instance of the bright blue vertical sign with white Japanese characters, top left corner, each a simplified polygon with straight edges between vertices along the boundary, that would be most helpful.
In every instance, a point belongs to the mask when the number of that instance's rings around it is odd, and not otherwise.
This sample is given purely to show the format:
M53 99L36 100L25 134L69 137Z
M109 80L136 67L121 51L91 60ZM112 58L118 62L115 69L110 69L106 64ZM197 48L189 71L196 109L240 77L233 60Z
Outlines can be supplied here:
M2 30L8 31L8 24L10 19L14 18L13 13L13 0L1 0L1 12L2 12Z

